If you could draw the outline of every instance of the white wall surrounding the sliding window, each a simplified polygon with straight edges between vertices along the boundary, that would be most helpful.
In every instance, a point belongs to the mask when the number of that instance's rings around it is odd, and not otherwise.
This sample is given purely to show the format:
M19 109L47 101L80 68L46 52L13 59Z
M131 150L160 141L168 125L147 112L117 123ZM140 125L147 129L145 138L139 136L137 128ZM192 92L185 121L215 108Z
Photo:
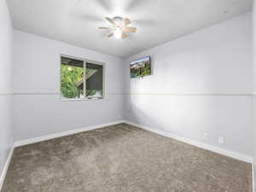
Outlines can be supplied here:
M61 102L60 54L105 62L106 98ZM14 74L15 141L123 119L121 59L15 30Z

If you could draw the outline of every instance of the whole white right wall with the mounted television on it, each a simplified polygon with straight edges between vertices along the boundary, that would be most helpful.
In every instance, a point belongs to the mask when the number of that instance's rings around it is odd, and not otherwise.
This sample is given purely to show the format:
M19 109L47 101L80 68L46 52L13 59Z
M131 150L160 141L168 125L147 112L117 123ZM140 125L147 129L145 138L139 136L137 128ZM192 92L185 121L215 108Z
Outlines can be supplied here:
M151 55L153 75L129 78ZM251 14L127 58L125 119L253 155ZM208 134L208 137L205 134ZM218 144L223 136L225 144Z

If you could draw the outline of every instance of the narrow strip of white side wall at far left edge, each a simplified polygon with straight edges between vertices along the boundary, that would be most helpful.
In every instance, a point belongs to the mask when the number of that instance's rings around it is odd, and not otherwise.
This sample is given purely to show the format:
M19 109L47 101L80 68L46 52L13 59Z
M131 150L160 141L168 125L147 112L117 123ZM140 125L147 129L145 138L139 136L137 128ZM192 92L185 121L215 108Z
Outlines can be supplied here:
M12 145L12 54L13 26L6 2L0 0L0 176Z

